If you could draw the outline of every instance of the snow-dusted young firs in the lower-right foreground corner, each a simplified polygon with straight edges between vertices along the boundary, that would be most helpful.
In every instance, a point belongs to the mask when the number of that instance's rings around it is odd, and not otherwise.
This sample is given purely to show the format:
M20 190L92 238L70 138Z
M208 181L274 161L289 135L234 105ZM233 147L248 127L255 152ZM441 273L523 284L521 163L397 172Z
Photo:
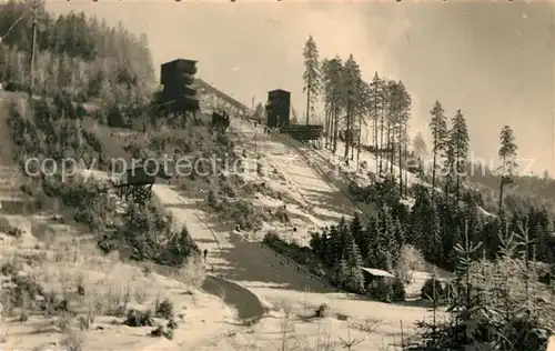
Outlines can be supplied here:
M526 230L521 223L521 231ZM466 232L466 231L465 231ZM426 329L425 344L434 350L545 350L549 338L546 330L553 325L554 308L542 301L535 264L528 262L525 234L518 239L514 232L500 231L498 254L495 260L478 257L478 244L465 235L466 244L458 247L457 279L453 282L448 300L447 323L420 323ZM532 258L533 259L533 258ZM524 273L524 279L522 273ZM527 288L527 284L531 287Z

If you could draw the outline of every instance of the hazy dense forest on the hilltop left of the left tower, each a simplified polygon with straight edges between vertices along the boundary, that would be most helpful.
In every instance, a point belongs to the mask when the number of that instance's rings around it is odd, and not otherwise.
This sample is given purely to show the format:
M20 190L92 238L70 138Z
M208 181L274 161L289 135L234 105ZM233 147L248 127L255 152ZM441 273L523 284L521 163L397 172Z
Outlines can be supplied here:
M64 94L129 116L149 102L155 81L144 34L83 12L54 16L38 1L0 3L0 82L8 90L30 88L33 7L34 94Z

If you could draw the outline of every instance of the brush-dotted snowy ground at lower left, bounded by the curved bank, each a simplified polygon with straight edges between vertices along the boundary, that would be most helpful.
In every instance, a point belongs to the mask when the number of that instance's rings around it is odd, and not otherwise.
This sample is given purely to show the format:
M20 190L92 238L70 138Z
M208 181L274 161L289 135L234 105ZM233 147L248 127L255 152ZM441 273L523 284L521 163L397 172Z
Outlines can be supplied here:
M0 214L0 220L3 223L0 264L33 257L40 264L23 264L24 272L39 274L47 289L74 290L81 282L85 291L84 305L74 307L80 313L87 313L87 303L110 303L109 299L123 299L128 293L128 307L140 310L153 309L157 299L173 301L179 324L174 340L153 339L149 337L153 328L129 328L113 323L121 319L99 315L92 330L78 333L83 350L192 350L231 328L229 321L234 320L235 312L221 299L196 290L181 278L163 277L155 270L144 273L140 267L122 263L117 255L100 254L94 234L80 227L60 224L46 215ZM7 235L3 231L8 225L23 230L23 234ZM60 344L68 337L60 332L56 318L30 315L27 322L20 322L18 315L2 320L0 347L3 349L39 350Z

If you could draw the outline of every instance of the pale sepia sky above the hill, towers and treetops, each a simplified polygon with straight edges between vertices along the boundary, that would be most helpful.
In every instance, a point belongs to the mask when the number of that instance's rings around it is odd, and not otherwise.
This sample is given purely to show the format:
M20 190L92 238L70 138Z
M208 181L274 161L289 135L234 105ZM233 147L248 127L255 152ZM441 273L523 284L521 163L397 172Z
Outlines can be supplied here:
M537 173L555 173L554 3L208 2L47 1L54 12L83 10L147 33L157 72L165 61L196 59L201 78L246 104L291 91L297 114L312 34L322 58L352 53L365 78L402 79L413 96L413 132L428 137L440 100L450 117L463 110L476 157L496 159L509 124L519 157L534 159Z

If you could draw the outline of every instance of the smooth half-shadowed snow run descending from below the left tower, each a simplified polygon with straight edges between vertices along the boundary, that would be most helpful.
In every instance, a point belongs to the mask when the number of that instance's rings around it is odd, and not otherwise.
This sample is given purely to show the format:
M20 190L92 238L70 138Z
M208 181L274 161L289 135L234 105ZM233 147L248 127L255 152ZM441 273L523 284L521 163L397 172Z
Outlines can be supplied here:
M216 215L209 217L199 211L199 200L185 199L170 185L155 184L152 190L158 201L174 217L175 223L186 225L199 248L208 250L206 267L214 274L249 289L279 287L299 291L334 291L297 270L297 265L270 248L235 233L232 224L222 224Z

